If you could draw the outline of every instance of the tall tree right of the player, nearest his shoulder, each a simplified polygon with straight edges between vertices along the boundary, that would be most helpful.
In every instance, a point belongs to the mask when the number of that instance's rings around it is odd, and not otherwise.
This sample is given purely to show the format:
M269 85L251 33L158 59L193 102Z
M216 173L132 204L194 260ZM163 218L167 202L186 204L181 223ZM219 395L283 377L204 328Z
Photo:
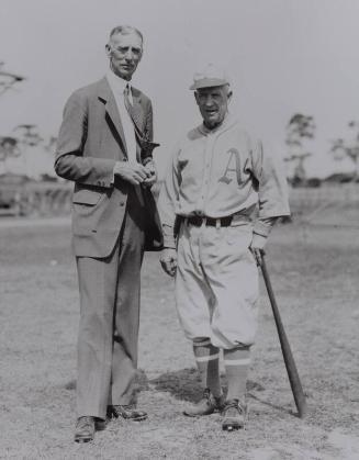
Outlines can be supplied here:
M313 116L295 113L287 125L285 144L289 147L285 161L294 161L293 184L305 183L304 160L311 156L304 148L304 141L314 138L315 123Z

